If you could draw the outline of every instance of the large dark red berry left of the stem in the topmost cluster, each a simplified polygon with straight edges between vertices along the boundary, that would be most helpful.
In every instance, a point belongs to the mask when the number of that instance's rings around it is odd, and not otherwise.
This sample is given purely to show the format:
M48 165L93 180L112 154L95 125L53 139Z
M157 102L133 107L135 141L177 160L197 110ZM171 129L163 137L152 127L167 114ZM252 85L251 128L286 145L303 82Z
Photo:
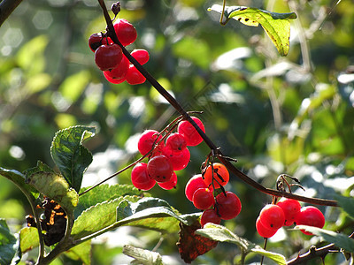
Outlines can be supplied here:
M95 63L102 71L116 67L123 57L122 50L117 44L101 45L95 51Z

